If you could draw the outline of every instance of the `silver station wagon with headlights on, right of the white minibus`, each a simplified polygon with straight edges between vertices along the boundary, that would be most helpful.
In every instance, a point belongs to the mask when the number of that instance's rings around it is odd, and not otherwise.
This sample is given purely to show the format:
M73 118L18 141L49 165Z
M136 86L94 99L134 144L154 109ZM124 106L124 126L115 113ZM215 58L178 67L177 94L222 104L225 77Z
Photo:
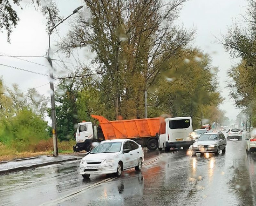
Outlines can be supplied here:
M218 155L220 150L222 153L226 152L227 140L222 132L204 133L192 145L192 155L196 153L211 152Z

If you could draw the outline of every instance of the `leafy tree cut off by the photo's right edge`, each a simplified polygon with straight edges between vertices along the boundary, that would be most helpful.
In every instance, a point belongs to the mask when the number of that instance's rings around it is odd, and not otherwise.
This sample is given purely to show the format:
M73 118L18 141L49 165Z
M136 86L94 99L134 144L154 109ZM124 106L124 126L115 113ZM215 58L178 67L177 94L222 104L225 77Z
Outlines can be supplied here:
M239 65L232 67L228 75L231 78L228 87L236 106L244 108L249 116L256 116L255 66L256 66L256 2L247 0L246 15L243 23L235 22L223 37L225 49L233 56L241 58ZM255 126L255 125L254 125Z

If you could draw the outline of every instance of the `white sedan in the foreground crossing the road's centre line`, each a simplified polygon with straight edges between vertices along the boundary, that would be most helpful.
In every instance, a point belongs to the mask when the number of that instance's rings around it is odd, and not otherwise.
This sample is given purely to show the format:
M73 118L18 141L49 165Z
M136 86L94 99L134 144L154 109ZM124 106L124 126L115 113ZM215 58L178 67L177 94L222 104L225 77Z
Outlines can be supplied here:
M91 174L111 174L120 177L122 171L135 167L140 171L144 162L141 145L129 139L102 141L80 162L79 173L84 178Z

